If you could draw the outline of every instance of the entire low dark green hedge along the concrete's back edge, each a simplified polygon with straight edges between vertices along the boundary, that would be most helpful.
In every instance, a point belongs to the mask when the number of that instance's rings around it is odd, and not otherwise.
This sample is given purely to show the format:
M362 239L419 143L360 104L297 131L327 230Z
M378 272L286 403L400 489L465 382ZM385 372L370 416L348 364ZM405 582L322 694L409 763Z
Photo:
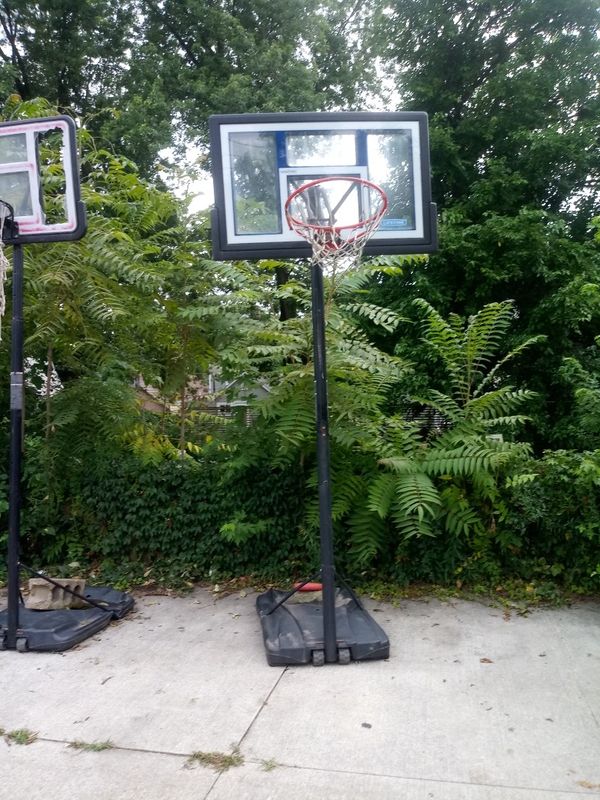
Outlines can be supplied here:
M40 453L28 454L29 482ZM303 528L310 465L232 470L230 456L160 463L133 455L100 459L57 489L66 499L46 528L36 527L45 517L40 497L26 487L24 556L40 565L99 563L104 575L120 581L137 580L151 566L174 582L183 573L190 579L312 573L316 533L308 536ZM344 497L335 489L341 513ZM433 538L398 540L393 520L382 520L388 546L367 566L356 558L341 514L335 523L338 567L355 583L495 587L521 581L538 596L556 586L598 590L599 451L549 451L524 460L497 499L491 524L439 530Z

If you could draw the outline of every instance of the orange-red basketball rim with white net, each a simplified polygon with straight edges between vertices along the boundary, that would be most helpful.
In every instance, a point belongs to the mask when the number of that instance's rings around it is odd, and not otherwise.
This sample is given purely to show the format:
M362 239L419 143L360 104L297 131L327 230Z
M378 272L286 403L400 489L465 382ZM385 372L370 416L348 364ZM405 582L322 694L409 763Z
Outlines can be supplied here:
M313 261L333 271L354 266L388 207L376 183L330 176L302 184L285 203L291 230L312 247Z

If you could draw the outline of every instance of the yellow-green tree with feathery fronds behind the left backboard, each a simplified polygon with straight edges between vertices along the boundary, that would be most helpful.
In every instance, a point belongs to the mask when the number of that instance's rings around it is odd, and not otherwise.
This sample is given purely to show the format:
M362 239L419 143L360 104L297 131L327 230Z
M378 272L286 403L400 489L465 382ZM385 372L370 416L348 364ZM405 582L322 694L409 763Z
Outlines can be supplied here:
M56 110L39 101L11 102L10 113L26 118ZM98 149L85 129L79 144L88 231L78 242L28 247L25 259L26 430L33 454L27 480L38 512L27 519L40 535L54 535L50 521L60 518L71 482L99 453L127 443L148 449L151 430L134 379L143 374L159 384L172 351L185 351L167 315L169 276L185 268L196 277L197 293L211 280L199 269L205 242L194 240L178 201L145 183L129 160ZM198 326L194 335L200 333ZM4 353L9 342L7 334ZM206 367L197 350L196 356L190 374ZM7 384L0 393L5 407ZM154 442L176 453L167 440Z

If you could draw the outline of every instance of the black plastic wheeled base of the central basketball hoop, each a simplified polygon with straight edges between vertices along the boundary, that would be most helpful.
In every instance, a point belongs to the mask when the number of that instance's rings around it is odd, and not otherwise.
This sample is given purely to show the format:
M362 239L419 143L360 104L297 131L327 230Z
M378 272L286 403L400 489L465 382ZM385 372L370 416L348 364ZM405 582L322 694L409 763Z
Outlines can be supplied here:
M286 594L269 589L256 598L267 661L272 667L319 663L314 654L322 654L325 646L323 605L287 601L269 613ZM389 658L389 639L350 592L336 590L335 612L338 651L349 650L353 661Z

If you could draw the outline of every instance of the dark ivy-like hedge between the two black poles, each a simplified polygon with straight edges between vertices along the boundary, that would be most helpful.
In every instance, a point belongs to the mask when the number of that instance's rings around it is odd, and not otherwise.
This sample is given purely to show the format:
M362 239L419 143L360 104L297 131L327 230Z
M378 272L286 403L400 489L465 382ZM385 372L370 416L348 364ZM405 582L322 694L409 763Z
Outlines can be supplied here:
M304 478L292 470L253 469L233 480L222 458L156 463L124 452L88 460L64 476L55 488L60 502L51 507L40 494L41 475L43 448L31 448L22 525L26 561L99 563L138 576L152 565L163 571L184 565L193 578L306 569L298 535ZM221 528L231 520L261 535L226 537Z

